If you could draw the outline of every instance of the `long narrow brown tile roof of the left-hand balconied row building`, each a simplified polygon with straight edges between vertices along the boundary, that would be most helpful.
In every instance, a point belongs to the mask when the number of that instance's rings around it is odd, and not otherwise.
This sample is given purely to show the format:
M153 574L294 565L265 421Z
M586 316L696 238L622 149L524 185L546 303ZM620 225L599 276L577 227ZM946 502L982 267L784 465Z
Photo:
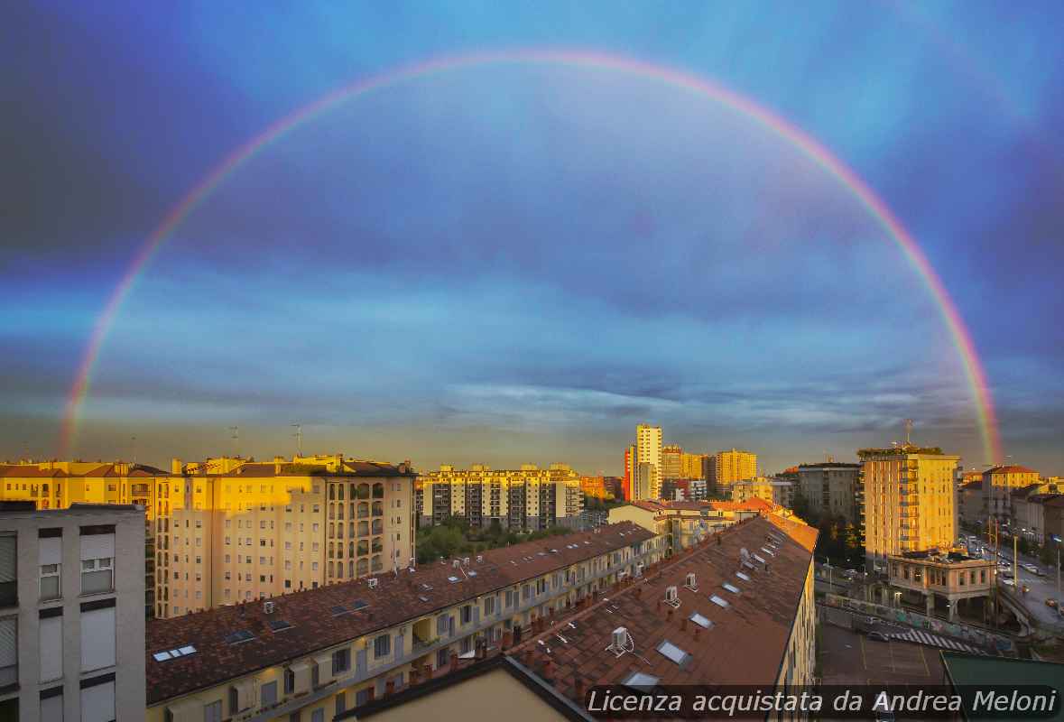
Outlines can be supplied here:
M379 575L376 589L370 589L366 580L359 580L275 597L272 615L263 611L259 600L174 619L150 620L146 650L148 704L310 655L654 536L631 522L599 528L486 551L482 561L472 560L466 568L476 571L475 576L461 573L450 564L422 565L415 572ZM452 583L450 576L460 576L461 581ZM429 589L422 586L426 584ZM361 611L333 615L333 607L350 606L356 600L368 606ZM273 633L268 620L284 620L292 628ZM227 635L242 629L255 638L239 644L225 641ZM196 653L166 661L155 661L152 656L186 644L194 645Z

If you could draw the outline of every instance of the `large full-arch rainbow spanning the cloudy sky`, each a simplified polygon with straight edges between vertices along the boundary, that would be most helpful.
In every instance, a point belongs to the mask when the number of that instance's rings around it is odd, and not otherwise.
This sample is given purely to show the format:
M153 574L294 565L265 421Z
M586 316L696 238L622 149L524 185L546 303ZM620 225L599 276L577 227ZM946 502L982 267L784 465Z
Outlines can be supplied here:
M170 209L159 226L152 231L132 263L130 263L126 274L115 287L103 310L97 317L64 409L60 431L60 456L66 456L70 450L78 425L79 414L88 393L89 381L99 358L100 350L106 340L107 333L114 325L122 303L129 297L130 291L133 289L137 279L151 261L155 251L159 250L188 214L209 198L215 188L229 178L230 174L256 153L283 138L294 129L348 100L415 79L462 68L498 64L576 66L608 72L627 73L637 78L658 81L688 91L695 96L718 102L732 112L752 120L780 138L788 141L826 172L833 175L865 207L882 229L886 231L887 235L897 244L905 258L908 258L909 263L924 280L949 331L953 346L960 355L966 382L971 390L971 397L978 412L983 451L986 456L985 460L997 461L1002 457L994 404L991 399L986 374L976 353L971 335L968 333L967 326L957 309L957 305L943 285L942 279L931 267L927 255L901 224L901 221L898 220L886 203L876 195L868 184L825 146L800 128L759 105L753 100L716 82L680 69L631 57L583 50L553 49L512 49L439 57L401 66L387 72L364 78L339 87L322 98L294 111L233 150L199 184L189 190Z

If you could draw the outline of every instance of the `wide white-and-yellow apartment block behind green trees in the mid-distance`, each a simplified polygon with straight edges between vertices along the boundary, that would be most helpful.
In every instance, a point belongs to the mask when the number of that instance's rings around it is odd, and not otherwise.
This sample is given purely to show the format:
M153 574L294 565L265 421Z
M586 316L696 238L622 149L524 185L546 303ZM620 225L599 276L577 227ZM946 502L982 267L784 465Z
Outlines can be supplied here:
M541 469L523 464L519 469L492 469L475 464L469 469L442 465L421 476L422 525L438 524L449 516L462 517L471 526L537 531L549 526L576 526L584 508L581 477L566 464Z

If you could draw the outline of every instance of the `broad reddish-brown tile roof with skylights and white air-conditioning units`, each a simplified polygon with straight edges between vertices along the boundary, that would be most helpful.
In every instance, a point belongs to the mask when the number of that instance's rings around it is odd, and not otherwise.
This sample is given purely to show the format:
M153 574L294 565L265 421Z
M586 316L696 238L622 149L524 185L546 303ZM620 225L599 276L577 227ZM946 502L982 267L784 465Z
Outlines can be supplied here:
M768 543L770 534L783 539L775 549ZM578 685L586 691L593 685L620 683L633 672L658 677L662 685L772 684L786 652L816 535L813 527L775 515L741 522L675 561L648 570L643 581L605 592L594 606L553 622L510 654L551 678L559 692L578 704L583 703ZM754 569L744 567L744 549L767 560L767 570L753 557ZM738 577L736 571L750 580ZM684 586L688 572L696 575L697 591ZM725 583L739 592L725 589ZM675 610L664 602L669 586L679 591L680 606ZM714 603L711 595L728 606ZM693 612L712 626L691 621ZM621 626L631 635L634 651L617 656L606 647L613 631ZM666 657L659 651L665 641L689 658L678 665Z

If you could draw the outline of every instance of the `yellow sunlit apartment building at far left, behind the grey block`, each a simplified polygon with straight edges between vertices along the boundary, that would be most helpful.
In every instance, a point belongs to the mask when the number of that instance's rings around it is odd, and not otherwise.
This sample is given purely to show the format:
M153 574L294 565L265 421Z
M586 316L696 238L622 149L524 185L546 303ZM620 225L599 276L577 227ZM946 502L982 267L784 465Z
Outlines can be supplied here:
M162 469L129 461L32 461L0 464L0 501L30 501L38 509L71 504L137 504L145 514L145 610L154 611L157 482Z

